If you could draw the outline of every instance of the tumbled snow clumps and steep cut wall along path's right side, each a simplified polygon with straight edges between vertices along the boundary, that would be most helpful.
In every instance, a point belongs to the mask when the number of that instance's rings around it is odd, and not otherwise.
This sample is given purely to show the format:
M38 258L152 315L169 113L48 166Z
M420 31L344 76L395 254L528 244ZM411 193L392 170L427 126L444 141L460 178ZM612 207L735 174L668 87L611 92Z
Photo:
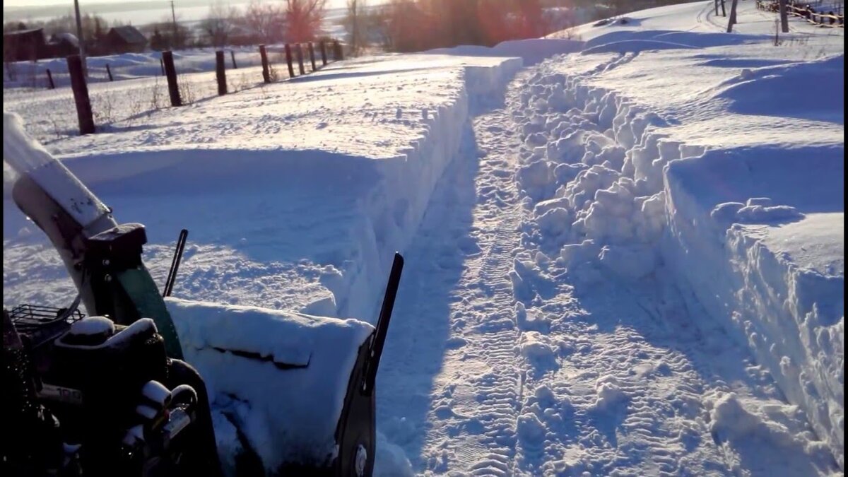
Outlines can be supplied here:
M517 177L533 210L523 241L576 283L662 276L691 289L806 412L817 435L801 444L806 452L827 448L844 469L844 275L803 270L745 229L801 220L822 204L841 212L841 149L708 151L672 139L659 115L616 92L545 64L514 115L527 146ZM734 171L753 162L783 170L759 179ZM710 168L726 179L709 182ZM793 179L817 192L758 186ZM699 192L711 186L733 197ZM716 207L732 200L738 206Z

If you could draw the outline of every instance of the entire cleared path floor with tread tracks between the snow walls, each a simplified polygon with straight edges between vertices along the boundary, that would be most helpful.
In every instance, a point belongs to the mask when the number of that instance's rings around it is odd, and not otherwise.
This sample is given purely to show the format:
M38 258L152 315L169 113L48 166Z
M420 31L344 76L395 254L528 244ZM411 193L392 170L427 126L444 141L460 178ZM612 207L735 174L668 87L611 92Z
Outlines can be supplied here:
M611 271L545 255L570 221L538 214L554 181L533 149L557 125L527 126L527 96L544 71L472 119L407 252L378 386L386 439L423 474L834 472L803 412L672 273L633 282L634 257Z

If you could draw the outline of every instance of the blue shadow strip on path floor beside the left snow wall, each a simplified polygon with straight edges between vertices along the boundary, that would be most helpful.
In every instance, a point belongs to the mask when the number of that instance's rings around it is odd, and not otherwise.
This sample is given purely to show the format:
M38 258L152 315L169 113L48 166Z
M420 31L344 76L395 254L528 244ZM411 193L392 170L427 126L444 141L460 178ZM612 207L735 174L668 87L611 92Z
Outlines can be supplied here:
M416 471L430 424L434 379L449 349L449 317L468 253L475 178L471 126L459 157L444 171L416 239L406 250L406 267L377 378L377 429L404 449ZM467 250L468 253L466 253Z

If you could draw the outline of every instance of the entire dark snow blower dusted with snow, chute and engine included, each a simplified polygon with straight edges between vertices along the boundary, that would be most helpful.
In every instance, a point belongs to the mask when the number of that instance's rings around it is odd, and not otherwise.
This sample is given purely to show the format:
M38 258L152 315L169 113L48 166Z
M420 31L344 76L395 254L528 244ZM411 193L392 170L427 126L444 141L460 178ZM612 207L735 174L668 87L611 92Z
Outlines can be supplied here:
M166 295L185 233L162 293L142 262L145 228L116 222L14 115L3 160L15 204L79 291L64 308L3 311L3 474L372 473L400 255L376 326L178 300ZM210 408L210 395L226 402Z

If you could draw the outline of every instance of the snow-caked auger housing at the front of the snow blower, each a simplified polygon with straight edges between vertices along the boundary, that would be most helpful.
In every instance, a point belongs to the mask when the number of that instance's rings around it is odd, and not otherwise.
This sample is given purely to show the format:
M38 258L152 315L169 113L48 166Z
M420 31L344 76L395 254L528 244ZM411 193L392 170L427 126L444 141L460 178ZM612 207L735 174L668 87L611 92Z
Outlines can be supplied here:
M252 306L166 303L213 411L245 435L265 469L332 458L350 373L371 325ZM215 424L219 441L232 435L220 418ZM221 444L221 460L232 462L228 453L238 445Z

